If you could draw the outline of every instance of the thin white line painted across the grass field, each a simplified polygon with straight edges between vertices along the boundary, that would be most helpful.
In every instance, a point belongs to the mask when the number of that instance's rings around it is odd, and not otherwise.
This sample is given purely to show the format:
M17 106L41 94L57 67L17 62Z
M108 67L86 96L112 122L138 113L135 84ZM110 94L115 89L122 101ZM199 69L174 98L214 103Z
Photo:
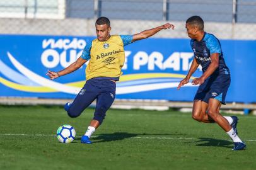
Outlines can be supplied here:
M23 133L4 133L0 134L0 136L55 136L55 135L47 135L47 134L23 134ZM100 135L92 135L91 137L99 137ZM81 136L76 136L76 137L81 137ZM118 138L117 137L106 137L106 138ZM133 138L133 139L169 139L169 140L200 140L196 138L182 138L182 137L128 137L128 138ZM230 140L232 141L232 140ZM250 141L250 142L256 142L256 139L244 139L243 141Z

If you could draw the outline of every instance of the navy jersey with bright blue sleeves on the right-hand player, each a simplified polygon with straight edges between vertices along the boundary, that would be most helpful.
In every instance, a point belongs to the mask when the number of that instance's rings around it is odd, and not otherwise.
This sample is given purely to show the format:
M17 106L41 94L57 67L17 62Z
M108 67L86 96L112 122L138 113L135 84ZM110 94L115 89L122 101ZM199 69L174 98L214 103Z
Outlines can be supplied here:
M230 74L230 69L226 66L221 50L221 43L218 38L209 33L204 33L200 42L195 39L190 40L190 45L195 55L195 59L202 66L202 72L205 72L211 64L211 54L219 54L219 67L213 74Z

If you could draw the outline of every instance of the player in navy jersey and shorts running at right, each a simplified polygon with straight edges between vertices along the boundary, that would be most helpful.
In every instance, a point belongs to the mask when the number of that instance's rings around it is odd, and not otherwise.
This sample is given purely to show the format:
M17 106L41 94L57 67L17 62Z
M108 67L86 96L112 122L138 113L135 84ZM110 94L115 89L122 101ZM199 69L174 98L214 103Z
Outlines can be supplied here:
M200 16L191 16L186 21L186 28L191 38L194 60L189 73L180 81L177 89L187 84L197 67L201 65L202 76L192 81L192 84L200 85L194 98L192 118L199 122L218 123L233 140L233 150L245 149L245 143L237 135L238 118L222 116L219 113L221 104L225 105L226 93L230 86L230 70L225 64L221 44L214 35L204 31L204 21Z

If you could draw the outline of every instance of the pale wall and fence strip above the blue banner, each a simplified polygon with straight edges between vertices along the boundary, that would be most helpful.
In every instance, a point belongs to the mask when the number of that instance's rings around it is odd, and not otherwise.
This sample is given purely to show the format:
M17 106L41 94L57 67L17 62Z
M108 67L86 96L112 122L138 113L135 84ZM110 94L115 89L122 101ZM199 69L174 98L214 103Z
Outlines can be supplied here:
M107 16L113 34L133 34L175 24L175 31L155 37L187 38L185 20L199 15L205 30L220 39L256 39L256 0L3 0L0 33L35 35L95 35L95 20Z

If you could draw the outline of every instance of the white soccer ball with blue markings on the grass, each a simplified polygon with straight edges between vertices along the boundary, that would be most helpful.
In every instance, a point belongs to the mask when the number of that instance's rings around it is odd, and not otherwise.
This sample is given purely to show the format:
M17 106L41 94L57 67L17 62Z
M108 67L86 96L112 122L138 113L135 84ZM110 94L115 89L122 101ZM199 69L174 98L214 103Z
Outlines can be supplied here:
M62 143L70 143L76 137L76 131L71 125L62 125L57 130L57 139Z

